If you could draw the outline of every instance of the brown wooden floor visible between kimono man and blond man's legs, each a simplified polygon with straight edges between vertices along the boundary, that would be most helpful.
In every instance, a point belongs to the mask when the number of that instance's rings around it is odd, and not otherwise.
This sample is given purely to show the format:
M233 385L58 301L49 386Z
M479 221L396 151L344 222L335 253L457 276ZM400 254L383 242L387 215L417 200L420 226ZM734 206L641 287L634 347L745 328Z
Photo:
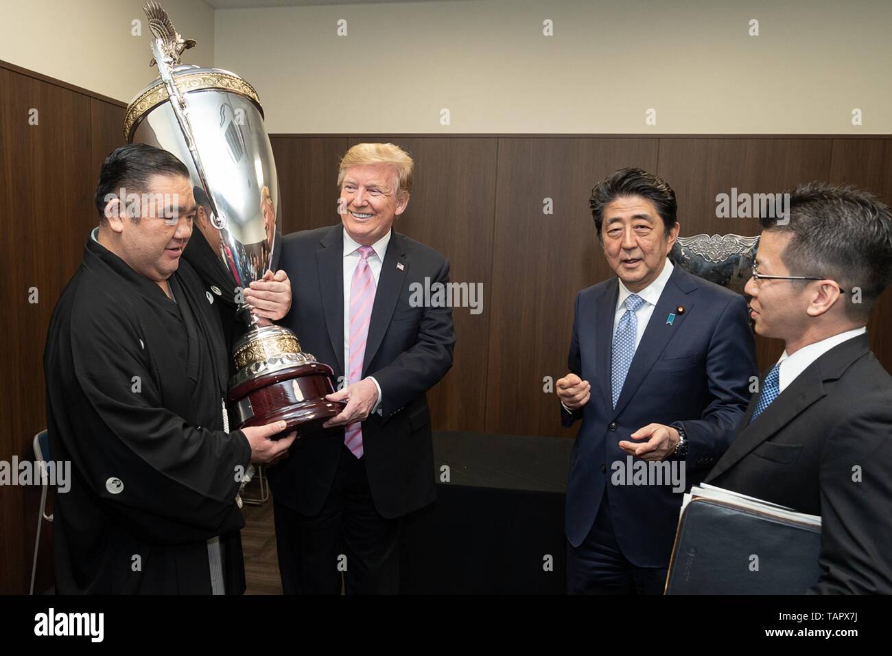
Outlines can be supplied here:
M244 496L260 496L260 488L253 480ZM244 552L245 594L282 594L276 555L276 527L273 522L272 497L262 505L245 503L242 507L242 551Z

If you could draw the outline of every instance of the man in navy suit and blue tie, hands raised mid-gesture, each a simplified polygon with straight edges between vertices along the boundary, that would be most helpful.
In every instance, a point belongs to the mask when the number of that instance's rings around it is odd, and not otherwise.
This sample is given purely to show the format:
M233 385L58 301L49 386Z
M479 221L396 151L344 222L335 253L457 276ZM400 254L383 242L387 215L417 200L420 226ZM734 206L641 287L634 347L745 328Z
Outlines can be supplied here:
M640 169L591 195L616 277L576 296L561 419L582 419L566 491L567 590L662 594L682 493L731 444L756 349L742 296L667 259L675 194Z

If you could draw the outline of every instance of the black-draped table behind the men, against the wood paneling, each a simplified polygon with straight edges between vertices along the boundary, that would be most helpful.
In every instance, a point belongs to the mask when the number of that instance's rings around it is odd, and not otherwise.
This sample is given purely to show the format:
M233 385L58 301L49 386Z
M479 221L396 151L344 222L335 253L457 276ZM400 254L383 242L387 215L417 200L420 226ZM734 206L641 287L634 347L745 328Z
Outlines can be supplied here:
M401 592L564 594L572 446L561 437L434 433L438 498L403 522Z

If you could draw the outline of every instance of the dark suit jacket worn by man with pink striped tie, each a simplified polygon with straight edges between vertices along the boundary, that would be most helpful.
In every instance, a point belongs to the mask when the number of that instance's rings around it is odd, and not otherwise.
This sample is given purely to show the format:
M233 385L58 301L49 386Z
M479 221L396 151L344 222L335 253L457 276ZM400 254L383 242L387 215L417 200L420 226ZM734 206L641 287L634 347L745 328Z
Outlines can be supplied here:
M398 267L397 264L401 264ZM292 309L281 323L301 349L345 376L343 228L286 235L280 266L291 280ZM382 415L362 423L363 458L376 509L400 517L436 497L431 415L425 392L452 366L455 333L448 307L412 307L409 285L449 281L449 262L392 231L368 327L362 377L381 386ZM322 509L343 448L343 428L295 440L291 457L269 469L276 501L303 515Z

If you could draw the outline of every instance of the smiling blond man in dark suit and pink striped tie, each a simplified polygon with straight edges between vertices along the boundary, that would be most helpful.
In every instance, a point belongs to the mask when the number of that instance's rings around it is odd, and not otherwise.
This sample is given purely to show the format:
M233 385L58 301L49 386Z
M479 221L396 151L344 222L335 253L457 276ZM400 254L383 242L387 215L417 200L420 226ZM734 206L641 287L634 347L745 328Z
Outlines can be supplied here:
M422 307L410 286L449 283L449 262L392 230L409 203L413 162L392 144L353 146L341 161L342 224L288 235L284 325L330 364L324 434L304 436L269 470L285 594L398 591L400 518L435 497L425 392L452 366L449 307ZM343 388L342 388L343 387Z

